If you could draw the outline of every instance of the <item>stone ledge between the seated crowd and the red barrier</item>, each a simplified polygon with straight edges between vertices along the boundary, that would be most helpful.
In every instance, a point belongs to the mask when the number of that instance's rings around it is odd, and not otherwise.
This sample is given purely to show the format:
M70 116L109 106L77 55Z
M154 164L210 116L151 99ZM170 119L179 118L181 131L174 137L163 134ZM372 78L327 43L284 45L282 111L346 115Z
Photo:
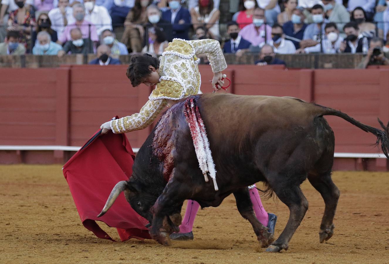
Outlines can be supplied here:
M258 53L246 53L241 58L235 54L224 54L227 64L253 65L259 59ZM0 68L52 68L60 65L82 65L95 59L96 55L83 54L57 56L36 56L26 54L21 56L0 56ZM130 62L131 56L119 56L123 64ZM356 68L362 61L362 54L278 54L277 58L286 62L287 68Z

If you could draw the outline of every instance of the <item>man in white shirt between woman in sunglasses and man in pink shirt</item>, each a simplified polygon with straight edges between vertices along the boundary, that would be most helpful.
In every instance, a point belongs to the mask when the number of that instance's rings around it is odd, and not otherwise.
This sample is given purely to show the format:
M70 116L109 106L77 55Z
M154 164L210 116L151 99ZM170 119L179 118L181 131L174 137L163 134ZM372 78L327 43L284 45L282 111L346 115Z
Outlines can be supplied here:
M51 28L60 35L67 24L74 23L73 9L69 6L69 0L58 0L58 7L51 9L48 14Z

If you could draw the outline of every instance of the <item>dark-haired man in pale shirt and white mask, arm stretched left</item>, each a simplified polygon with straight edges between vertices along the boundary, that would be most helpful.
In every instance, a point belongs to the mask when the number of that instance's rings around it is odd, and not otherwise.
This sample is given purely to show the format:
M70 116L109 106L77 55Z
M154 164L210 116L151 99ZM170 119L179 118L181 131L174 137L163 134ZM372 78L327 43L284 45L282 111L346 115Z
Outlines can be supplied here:
M312 52L321 52L326 54L335 54L340 52L340 45L343 42L343 37L339 35L339 30L336 27L335 23L328 23L326 24L326 38L323 39L322 47L319 44L317 44L314 47L307 47L305 49L298 49L296 51L297 54L299 53L312 53ZM322 50L321 50L322 49Z

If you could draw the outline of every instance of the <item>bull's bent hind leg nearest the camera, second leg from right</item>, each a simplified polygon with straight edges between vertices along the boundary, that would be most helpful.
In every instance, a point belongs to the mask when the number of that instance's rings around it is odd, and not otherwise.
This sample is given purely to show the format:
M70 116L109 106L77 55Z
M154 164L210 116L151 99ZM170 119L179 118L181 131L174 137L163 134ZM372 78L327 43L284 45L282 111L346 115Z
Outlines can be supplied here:
M275 178L280 179L281 177ZM303 220L308 210L308 201L303 192L301 192L300 185L280 181L273 182L272 184L269 182L269 184L278 198L289 208L289 220L285 229L279 238L266 249L266 252L279 252L282 249L288 249L289 241L297 227L300 226L301 220Z

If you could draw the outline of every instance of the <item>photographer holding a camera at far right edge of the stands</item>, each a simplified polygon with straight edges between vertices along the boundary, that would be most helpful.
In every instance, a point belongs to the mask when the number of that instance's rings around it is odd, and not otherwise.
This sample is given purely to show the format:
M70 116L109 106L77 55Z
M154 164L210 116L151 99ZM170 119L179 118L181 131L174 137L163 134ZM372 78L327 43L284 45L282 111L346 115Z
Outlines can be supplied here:
M365 69L368 65L389 65L387 53L382 51L383 45L381 38L372 38L370 40L370 49L363 61L359 63L358 68Z

